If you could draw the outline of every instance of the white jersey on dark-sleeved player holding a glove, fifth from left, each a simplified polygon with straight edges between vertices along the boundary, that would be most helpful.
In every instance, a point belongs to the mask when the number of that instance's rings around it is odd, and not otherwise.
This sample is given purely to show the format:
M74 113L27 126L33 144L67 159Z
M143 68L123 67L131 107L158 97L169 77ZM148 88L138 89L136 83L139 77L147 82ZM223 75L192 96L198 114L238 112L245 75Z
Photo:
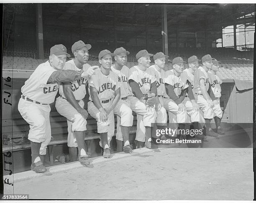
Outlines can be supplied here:
M138 83L143 94L149 94L151 84L156 81L155 71L147 68L145 71L140 70L137 65L130 69L129 80L134 80Z

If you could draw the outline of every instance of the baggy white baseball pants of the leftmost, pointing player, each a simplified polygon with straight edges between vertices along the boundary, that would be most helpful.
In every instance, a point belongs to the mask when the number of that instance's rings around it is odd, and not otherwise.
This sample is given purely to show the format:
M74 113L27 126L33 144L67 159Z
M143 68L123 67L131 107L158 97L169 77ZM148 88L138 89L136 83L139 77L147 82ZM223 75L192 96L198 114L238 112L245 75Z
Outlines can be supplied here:
M50 105L36 104L20 98L18 110L29 124L28 140L41 143L39 153L45 155L47 145L51 141Z

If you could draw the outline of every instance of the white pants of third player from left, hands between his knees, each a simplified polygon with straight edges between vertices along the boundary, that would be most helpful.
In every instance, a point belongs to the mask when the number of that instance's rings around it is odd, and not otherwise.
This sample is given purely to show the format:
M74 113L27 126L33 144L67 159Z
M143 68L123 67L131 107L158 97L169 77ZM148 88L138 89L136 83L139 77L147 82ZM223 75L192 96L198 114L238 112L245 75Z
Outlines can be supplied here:
M113 102L113 99L108 103L101 103L103 108L108 108ZM110 146L110 141L115 133L115 119L114 119L114 111L110 111L108 114L108 120L106 122L100 121L99 115L100 111L94 105L92 101L88 102L88 113L97 120L97 132L98 133L108 133L108 145ZM100 146L102 143L100 141Z

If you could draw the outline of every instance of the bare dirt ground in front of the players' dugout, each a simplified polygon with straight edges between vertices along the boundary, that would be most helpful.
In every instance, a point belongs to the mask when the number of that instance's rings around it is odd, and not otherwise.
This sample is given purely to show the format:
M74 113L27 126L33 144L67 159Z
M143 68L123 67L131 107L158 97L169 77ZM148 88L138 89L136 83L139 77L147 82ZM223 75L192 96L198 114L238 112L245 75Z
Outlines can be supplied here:
M91 162L15 174L14 188L4 193L30 199L253 200L252 148L141 148Z

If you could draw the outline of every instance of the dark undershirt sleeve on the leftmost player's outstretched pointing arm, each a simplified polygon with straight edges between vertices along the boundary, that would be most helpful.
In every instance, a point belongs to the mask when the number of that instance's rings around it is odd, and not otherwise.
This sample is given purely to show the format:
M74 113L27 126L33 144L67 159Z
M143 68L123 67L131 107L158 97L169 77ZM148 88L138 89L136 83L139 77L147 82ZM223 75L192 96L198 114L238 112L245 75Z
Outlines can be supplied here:
M52 83L68 83L81 79L82 71L75 70L57 70L49 77L47 84Z

